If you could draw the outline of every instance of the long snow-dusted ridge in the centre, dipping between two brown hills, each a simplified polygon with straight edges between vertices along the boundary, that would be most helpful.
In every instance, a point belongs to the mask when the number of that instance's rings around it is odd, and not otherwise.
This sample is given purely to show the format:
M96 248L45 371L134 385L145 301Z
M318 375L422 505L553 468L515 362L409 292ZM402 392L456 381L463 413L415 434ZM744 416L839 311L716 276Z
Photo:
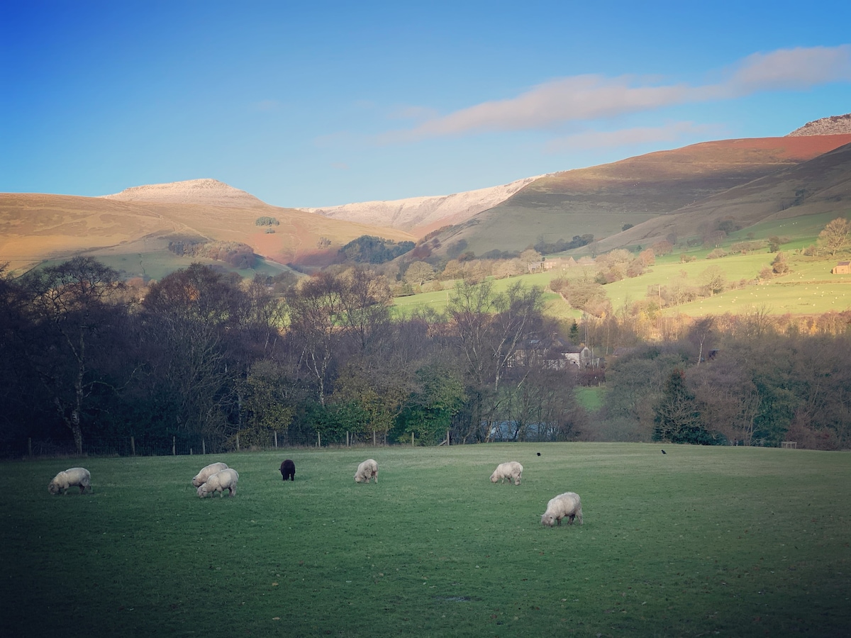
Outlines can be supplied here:
M483 210L493 208L514 195L539 177L518 179L501 186L480 188L454 195L408 197L380 202L359 202L328 206L326 208L300 208L307 213L317 213L333 219L345 219L364 224L391 226L409 231L413 228L442 224L457 224Z

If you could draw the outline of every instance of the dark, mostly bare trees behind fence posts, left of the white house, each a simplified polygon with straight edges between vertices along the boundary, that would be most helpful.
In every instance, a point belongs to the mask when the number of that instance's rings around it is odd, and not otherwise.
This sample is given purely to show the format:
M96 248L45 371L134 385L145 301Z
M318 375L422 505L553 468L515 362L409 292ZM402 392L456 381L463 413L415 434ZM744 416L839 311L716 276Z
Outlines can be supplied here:
M540 288L462 282L448 314L394 318L388 283L361 268L269 284L193 264L132 286L84 257L0 277L0 446L432 444L487 441L505 421L515 438L533 421L573 436L571 379L533 356L557 333Z

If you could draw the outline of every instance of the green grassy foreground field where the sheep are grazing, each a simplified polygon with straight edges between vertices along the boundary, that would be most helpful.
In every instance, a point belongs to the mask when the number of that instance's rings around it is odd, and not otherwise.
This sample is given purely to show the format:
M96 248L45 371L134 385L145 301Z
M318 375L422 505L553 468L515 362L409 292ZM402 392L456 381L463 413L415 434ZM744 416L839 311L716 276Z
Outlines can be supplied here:
M7 635L843 635L851 455L493 444L3 464ZM538 457L537 453L541 453ZM296 463L283 483L281 460ZM380 484L352 480L373 457ZM517 459L519 487L488 481ZM572 490L583 526L545 528Z

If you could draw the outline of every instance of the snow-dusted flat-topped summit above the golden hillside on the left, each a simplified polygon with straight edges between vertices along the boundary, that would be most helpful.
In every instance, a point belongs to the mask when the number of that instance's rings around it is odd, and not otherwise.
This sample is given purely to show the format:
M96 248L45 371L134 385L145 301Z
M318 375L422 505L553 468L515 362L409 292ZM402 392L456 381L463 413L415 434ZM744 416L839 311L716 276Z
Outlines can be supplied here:
M102 195L106 199L123 202L167 202L180 204L207 204L208 206L237 206L240 208L263 206L260 199L218 179L187 179L168 184L133 186L115 195Z

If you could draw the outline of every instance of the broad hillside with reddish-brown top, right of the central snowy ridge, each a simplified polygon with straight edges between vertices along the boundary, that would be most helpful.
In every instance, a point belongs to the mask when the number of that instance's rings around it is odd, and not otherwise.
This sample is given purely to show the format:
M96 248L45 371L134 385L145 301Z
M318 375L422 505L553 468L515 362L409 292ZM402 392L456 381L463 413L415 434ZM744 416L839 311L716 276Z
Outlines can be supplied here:
M613 236L623 225L671 214L849 142L851 134L721 140L551 174L440 241L445 249L463 240L482 254L522 250L540 236Z

